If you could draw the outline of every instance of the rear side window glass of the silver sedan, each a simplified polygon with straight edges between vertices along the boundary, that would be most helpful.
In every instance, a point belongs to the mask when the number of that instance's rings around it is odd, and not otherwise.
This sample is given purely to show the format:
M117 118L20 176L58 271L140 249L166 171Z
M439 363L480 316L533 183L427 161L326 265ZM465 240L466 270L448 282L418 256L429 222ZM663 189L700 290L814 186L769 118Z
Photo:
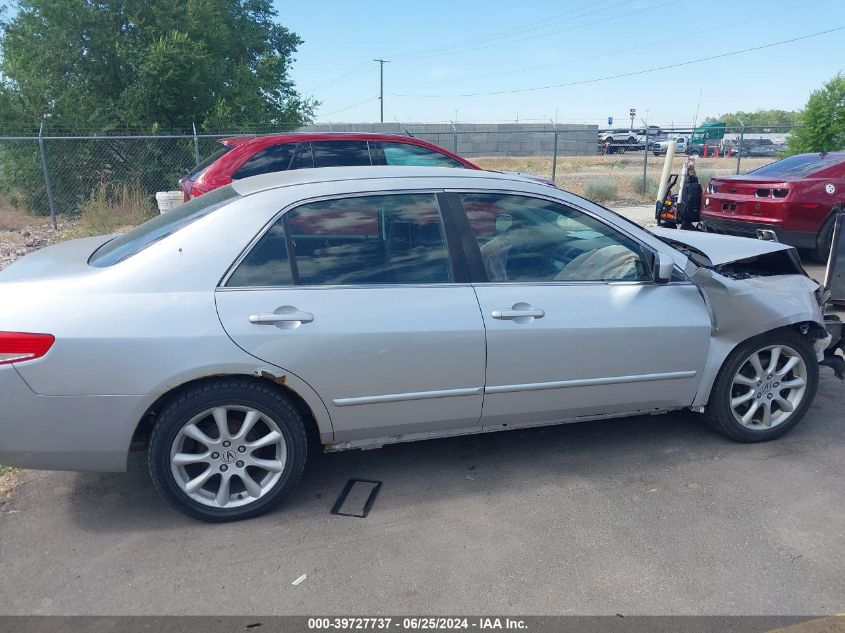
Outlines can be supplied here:
M324 200L288 211L227 286L448 283L453 280L434 195Z

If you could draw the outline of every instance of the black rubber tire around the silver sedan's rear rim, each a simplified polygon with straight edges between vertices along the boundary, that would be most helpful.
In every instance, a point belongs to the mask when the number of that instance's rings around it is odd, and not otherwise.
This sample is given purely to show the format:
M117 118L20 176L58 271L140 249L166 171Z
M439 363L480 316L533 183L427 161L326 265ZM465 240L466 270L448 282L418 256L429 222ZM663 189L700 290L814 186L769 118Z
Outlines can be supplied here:
M220 406L247 407L269 416L281 431L287 450L274 486L256 501L233 508L210 507L191 499L174 479L170 466L171 447L182 427L203 411ZM262 381L231 377L188 388L164 406L150 438L148 463L156 490L176 510L200 521L224 523L256 517L277 506L299 482L307 454L302 415L290 400Z

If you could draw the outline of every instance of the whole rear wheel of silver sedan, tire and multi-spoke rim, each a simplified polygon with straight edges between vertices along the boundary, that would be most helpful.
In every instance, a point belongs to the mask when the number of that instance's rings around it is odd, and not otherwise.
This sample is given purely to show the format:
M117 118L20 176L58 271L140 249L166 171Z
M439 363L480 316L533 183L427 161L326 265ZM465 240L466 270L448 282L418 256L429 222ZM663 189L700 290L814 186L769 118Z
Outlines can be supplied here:
M153 429L150 474L180 512L224 522L263 514L297 484L307 445L302 416L278 389L249 378L189 388Z

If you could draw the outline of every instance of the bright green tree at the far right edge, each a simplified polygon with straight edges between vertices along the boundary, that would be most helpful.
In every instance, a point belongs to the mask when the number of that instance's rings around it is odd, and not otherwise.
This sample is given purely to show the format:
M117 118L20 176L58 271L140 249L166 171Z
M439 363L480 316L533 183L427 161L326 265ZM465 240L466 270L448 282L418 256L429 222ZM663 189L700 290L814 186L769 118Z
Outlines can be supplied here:
M791 153L845 149L845 76L842 73L813 91L801 110L799 123L801 127L787 139Z

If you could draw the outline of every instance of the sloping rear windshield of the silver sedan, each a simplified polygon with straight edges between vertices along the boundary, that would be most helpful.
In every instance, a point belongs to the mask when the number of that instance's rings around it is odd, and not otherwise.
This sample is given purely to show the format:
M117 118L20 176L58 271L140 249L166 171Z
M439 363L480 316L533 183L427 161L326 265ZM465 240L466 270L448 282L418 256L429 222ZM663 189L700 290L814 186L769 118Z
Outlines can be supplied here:
M194 198L169 213L159 215L128 233L109 240L94 251L88 259L88 264L105 268L122 262L239 197L232 185L226 185Z

